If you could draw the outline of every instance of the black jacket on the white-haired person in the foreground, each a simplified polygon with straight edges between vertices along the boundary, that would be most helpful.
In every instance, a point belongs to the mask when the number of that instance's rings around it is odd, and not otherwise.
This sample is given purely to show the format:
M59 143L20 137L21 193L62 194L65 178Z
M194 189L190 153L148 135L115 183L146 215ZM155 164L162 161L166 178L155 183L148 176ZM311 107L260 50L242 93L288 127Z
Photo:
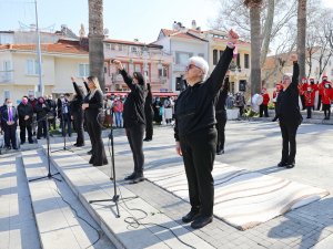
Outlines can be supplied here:
M178 97L175 112L174 138L185 136L215 123L216 95L233 56L233 49L226 48L212 74L205 82L188 86Z

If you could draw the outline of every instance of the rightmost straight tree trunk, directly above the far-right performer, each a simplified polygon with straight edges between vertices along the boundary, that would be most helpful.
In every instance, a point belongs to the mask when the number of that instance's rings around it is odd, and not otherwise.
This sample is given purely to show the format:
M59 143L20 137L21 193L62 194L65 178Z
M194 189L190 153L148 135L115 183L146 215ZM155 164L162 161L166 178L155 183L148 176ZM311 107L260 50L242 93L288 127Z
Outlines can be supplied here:
M306 37L306 0L299 0L297 54L299 54L299 64L300 64L300 79L305 76L305 52L306 52L305 37Z

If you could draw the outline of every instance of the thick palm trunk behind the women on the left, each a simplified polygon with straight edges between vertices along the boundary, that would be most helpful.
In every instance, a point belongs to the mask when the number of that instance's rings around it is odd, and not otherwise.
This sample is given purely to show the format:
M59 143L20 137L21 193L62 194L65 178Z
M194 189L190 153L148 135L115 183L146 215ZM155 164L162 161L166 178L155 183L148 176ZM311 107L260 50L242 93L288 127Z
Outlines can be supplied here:
M98 76L101 90L104 92L103 0L88 0L88 4L89 69L91 75Z

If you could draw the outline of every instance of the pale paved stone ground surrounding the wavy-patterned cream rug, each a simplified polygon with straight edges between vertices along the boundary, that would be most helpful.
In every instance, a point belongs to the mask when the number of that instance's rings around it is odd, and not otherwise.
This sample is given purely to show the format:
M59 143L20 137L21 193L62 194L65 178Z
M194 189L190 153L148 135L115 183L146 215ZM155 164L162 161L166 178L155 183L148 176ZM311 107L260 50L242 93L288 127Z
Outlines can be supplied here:
M282 143L278 123L229 122L225 154L216 156L216 160L333 193L332 138L333 126L301 125L297 133L296 166L293 169L281 169L276 167ZM85 152L87 148L82 149L81 155L89 159ZM133 170L132 154L123 129L114 131L114 152L117 178L122 179ZM155 127L153 141L144 143L144 154L145 167L181 162L174 151L172 127ZM110 166L100 169L110 175ZM123 180L119 183L125 184ZM190 208L188 203L149 181L127 187L180 224L180 218ZM333 242L327 243L333 238L333 198L330 195L246 231L236 230L215 218L213 224L194 232L216 248L305 249L314 245L317 248L333 248ZM321 240L326 241L326 246L321 246Z

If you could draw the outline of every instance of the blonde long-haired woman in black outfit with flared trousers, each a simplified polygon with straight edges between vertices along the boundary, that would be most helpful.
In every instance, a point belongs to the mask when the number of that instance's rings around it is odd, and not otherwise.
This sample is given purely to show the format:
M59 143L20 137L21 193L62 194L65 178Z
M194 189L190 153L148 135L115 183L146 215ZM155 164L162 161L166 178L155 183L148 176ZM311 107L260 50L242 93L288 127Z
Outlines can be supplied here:
M84 110L87 129L90 136L92 154L89 164L102 166L108 164L105 149L102 141L102 106L103 93L98 77L89 76L88 86L90 92L84 97L82 110Z

